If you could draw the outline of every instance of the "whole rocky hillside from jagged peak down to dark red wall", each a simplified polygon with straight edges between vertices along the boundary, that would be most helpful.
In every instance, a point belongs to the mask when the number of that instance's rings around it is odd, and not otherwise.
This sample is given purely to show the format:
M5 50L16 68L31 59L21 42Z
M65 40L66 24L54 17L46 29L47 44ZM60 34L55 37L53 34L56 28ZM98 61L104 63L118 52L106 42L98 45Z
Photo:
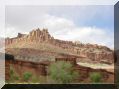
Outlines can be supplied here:
M29 34L18 33L17 37L5 39L6 53L36 57L32 60L47 60L62 55L77 56L80 61L113 63L113 51L97 44L64 41L52 37L47 29L35 29ZM19 58L19 56L17 56ZM37 58L38 57L38 58Z

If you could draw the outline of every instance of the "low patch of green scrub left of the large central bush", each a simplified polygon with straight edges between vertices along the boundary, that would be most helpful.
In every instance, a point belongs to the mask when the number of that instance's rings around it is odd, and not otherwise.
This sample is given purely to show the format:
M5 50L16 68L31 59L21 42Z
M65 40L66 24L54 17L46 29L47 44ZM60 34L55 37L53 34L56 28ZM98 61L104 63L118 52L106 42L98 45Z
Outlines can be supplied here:
M10 65L10 79L6 80L6 83L20 83L20 82L31 82L31 83L45 83L46 79L45 76L39 76L32 75L31 72L25 72L21 76L17 74L15 69L12 65Z

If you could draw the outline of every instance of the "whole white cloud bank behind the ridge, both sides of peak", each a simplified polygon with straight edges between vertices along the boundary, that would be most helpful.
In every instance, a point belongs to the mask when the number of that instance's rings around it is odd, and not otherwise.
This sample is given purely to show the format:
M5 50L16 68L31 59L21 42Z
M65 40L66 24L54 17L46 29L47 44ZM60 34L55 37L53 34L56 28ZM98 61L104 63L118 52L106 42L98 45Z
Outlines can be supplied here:
M56 17L45 14L41 16L39 24L36 27L48 28L54 38L62 40L81 41L82 43L94 43L106 45L110 48L114 46L113 33L107 29L97 27L79 27L75 23L63 17ZM31 29L29 29L30 31ZM19 30L14 27L7 28L7 36L16 36L18 32L26 33L26 30Z

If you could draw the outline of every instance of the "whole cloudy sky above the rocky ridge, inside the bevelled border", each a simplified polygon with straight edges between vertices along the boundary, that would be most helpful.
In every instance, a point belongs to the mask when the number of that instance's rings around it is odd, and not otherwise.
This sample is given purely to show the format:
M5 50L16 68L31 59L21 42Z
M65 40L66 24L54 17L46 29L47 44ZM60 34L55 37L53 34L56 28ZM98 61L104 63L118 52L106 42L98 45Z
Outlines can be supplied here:
M7 6L6 37L47 28L57 39L114 47L113 5Z

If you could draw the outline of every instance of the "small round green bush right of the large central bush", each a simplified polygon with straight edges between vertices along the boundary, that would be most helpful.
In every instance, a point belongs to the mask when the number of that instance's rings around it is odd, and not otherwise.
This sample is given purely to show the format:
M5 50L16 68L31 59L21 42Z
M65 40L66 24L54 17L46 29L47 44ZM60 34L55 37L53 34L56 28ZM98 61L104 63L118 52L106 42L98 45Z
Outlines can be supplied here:
M93 72L90 74L90 79L93 83L100 83L102 79L102 75L98 72Z

